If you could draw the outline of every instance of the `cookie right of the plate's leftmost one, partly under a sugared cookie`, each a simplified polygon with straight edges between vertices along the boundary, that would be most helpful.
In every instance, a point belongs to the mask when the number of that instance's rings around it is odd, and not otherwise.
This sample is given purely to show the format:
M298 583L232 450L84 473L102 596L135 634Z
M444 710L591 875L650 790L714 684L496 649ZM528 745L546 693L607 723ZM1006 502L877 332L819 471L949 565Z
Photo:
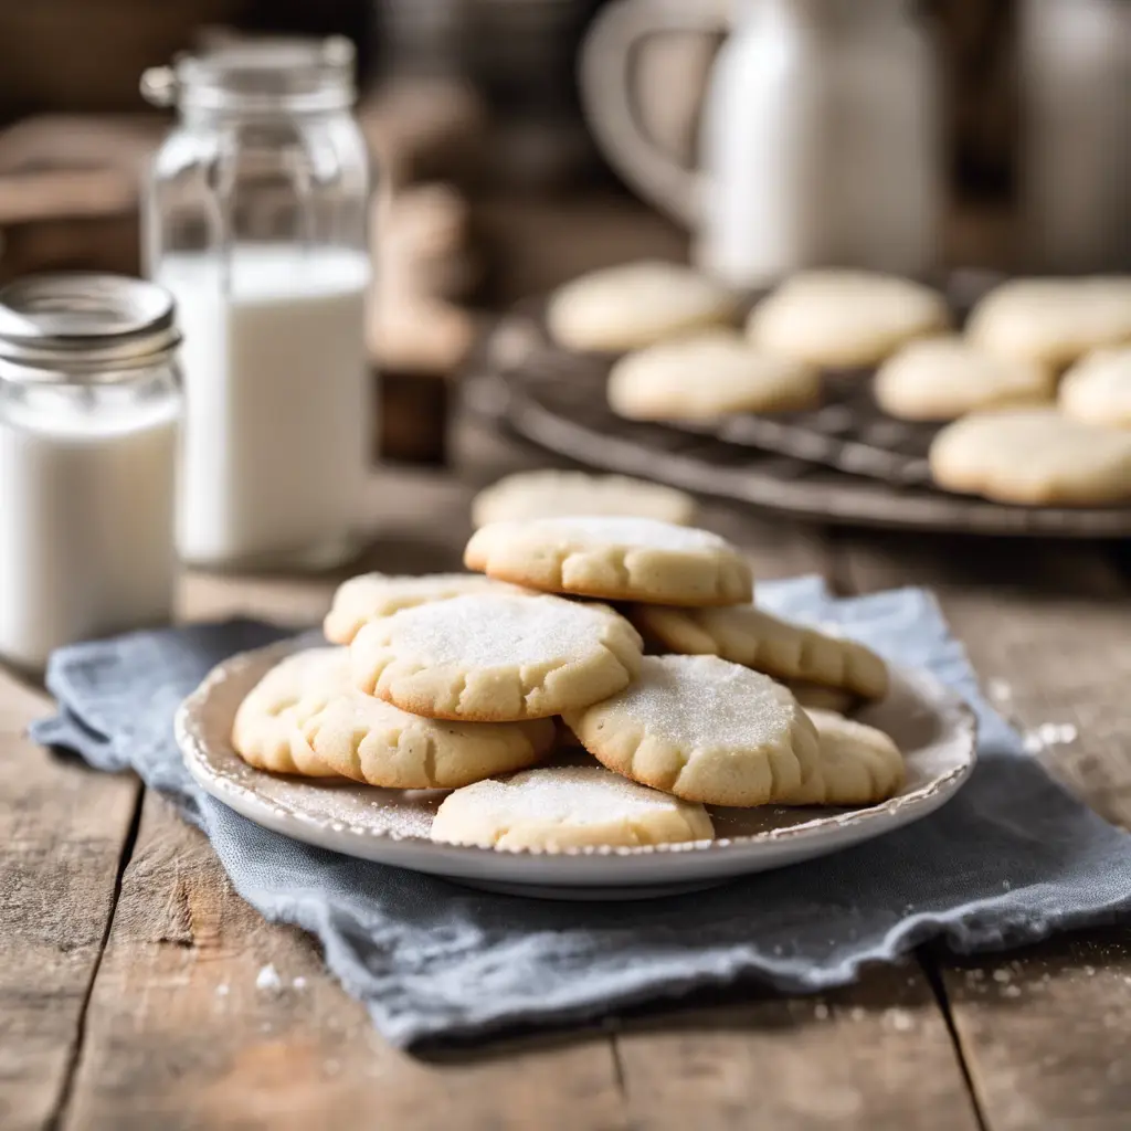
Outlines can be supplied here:
M552 719L449 723L420 718L351 689L303 723L310 749L343 777L387 789L454 789L533 766L554 743Z

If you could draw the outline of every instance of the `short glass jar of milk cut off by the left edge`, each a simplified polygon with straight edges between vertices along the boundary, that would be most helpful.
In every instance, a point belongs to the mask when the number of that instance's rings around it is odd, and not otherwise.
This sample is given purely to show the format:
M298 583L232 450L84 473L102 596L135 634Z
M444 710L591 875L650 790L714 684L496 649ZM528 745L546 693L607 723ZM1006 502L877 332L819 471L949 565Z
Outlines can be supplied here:
M181 415L167 292L113 275L0 291L0 656L167 622Z

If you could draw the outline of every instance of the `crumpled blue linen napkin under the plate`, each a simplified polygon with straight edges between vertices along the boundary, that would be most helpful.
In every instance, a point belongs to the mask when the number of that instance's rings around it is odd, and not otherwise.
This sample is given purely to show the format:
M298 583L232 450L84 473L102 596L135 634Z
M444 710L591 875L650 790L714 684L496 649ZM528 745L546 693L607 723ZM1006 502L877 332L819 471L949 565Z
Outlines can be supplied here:
M966 787L920 823L823 860L675 898L553 903L313 848L205 795L173 742L176 705L221 659L286 634L277 628L234 621L64 648L48 671L60 713L32 733L100 769L132 767L171 797L236 891L268 920L316 934L329 968L402 1046L580 1021L739 979L811 992L935 936L965 952L1000 949L1131 913L1131 836L1025 752L930 594L837 601L801 578L760 587L759 601L837 624L964 694L981 724Z

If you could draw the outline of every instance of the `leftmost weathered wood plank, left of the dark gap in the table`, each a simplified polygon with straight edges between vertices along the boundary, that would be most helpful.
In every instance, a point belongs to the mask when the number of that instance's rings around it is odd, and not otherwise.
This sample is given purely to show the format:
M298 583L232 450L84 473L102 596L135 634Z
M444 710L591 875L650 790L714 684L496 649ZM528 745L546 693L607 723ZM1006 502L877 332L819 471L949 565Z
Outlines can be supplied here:
M49 757L50 702L0 674L0 1126L41 1128L77 1054L138 802L135 778Z

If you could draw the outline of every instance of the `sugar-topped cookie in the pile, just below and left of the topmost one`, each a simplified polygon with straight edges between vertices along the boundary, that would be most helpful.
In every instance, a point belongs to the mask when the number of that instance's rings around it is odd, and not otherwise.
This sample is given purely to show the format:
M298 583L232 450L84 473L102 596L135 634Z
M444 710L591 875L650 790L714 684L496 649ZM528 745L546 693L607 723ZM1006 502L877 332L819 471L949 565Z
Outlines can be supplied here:
M354 683L414 715L509 723L560 715L620 691L641 641L605 605L474 594L366 624L351 645Z

